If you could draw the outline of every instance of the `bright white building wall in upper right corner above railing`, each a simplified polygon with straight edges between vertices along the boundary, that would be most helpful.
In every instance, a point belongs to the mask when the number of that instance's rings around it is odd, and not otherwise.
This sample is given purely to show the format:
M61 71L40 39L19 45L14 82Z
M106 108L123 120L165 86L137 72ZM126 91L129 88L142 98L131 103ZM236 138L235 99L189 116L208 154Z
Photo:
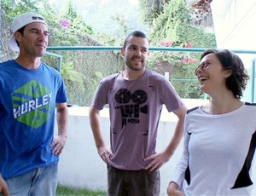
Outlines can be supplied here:
M255 0L214 0L211 8L219 49L255 49Z

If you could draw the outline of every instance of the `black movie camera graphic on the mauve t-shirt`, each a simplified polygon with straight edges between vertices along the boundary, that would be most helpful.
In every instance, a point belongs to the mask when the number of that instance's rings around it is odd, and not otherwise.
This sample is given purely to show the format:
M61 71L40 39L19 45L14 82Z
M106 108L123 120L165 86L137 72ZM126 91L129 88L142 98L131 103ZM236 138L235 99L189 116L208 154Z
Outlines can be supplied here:
M140 112L148 113L148 105L142 106L148 100L148 94L143 89L131 92L128 89L119 89L114 95L115 101L119 104L122 118L122 128L127 124L139 124Z

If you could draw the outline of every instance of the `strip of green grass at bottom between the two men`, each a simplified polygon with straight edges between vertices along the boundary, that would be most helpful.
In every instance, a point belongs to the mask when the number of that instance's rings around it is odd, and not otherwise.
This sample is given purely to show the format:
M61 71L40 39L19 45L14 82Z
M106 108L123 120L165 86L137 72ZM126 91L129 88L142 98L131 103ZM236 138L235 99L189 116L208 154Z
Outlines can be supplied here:
M104 191L92 191L88 188L76 188L76 187L66 187L58 185L57 187L57 196L66 196L66 195L86 195L86 196L103 196L107 195Z

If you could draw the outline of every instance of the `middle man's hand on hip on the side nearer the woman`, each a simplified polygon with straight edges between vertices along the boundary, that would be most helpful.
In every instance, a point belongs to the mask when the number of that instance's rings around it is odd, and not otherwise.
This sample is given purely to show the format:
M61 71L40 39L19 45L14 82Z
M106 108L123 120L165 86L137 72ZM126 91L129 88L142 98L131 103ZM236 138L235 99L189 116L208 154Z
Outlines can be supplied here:
M151 162L146 166L146 170L159 170L160 167L163 164L166 164L166 162L170 159L171 157L167 155L167 153L155 153L154 155L151 155L144 160L151 160Z

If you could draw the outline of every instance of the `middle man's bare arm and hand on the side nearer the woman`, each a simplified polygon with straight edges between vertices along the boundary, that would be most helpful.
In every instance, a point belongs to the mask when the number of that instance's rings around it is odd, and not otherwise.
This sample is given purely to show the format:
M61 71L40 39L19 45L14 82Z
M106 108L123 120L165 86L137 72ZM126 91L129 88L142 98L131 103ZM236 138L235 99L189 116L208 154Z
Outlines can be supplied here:
M151 155L144 159L151 159L151 162L145 168L146 170L159 170L163 164L166 164L166 162L171 159L172 154L175 152L179 142L183 138L184 118L187 112L187 107L183 105L177 110L174 110L173 112L177 115L178 119L174 134L172 135L172 140L170 141L170 143L166 147L166 150L163 153L155 153L154 155Z

